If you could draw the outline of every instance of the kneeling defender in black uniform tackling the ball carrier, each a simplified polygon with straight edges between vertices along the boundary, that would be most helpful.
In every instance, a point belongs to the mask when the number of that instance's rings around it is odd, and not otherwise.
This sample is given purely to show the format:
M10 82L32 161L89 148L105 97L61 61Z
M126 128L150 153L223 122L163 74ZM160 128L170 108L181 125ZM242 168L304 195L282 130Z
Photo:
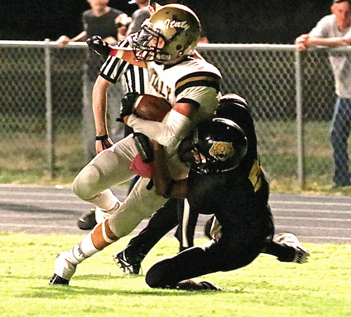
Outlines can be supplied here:
M273 240L269 186L259 164L253 119L240 97L222 98L218 118L198 126L180 144L178 154L190 166L186 180L173 181L153 143L155 186L161 195L186 196L191 213L214 214L221 237L155 263L146 274L151 287L219 289L193 277L250 264L260 253L284 262L306 262L309 253L292 234Z

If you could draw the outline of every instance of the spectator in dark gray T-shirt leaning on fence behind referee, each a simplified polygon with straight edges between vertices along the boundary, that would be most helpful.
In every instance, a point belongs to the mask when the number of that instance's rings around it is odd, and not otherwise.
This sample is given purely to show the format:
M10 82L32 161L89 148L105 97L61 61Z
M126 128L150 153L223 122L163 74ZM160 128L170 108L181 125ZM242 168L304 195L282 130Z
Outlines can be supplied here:
M82 14L84 30L73 38L66 35L60 36L57 45L63 47L69 42L84 42L88 37L100 35L106 42L116 45L122 38L120 29L125 23L130 22L130 17L125 13L108 6L109 0L87 0L91 9ZM126 28L124 27L124 31ZM84 143L87 162L91 161L96 155L95 152L95 122L92 108L92 91L95 80L99 75L100 67L105 62L105 58L95 54L91 50L87 53L86 60L86 79L84 80L84 104L83 104L83 126ZM107 124L110 127L110 134L114 142L124 136L124 124L116 122L119 116L120 100L124 96L121 82L108 90L108 99L111 103L107 112Z

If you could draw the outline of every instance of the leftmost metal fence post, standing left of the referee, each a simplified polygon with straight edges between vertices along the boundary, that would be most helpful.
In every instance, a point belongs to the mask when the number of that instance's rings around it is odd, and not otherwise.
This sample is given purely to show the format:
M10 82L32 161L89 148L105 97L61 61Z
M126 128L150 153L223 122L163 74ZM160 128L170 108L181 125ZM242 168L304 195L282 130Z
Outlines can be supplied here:
M49 176L52 178L54 176L54 145L52 129L51 49L49 39L45 39L45 109L47 170Z

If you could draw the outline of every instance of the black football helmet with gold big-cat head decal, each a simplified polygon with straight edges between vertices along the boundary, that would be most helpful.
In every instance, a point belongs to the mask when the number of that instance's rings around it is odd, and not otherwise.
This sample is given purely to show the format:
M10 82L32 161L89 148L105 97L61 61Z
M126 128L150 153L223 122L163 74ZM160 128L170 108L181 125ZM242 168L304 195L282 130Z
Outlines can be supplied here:
M200 174L232 170L246 152L247 139L243 129L224 118L200 124L178 147L180 161Z

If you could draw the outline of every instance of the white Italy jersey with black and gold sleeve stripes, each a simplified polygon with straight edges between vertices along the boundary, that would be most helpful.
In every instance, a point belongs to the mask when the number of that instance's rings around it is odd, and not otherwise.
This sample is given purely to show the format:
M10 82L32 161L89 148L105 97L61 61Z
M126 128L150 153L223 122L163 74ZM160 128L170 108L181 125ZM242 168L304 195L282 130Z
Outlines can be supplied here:
M177 102L184 102L197 108L191 124L183 126L165 146L171 177L185 178L188 168L179 161L178 145L197 123L213 117L220 98L221 74L212 64L194 58L173 66L147 62L147 69L151 94L167 99L172 106ZM161 128L161 133L162 130Z

